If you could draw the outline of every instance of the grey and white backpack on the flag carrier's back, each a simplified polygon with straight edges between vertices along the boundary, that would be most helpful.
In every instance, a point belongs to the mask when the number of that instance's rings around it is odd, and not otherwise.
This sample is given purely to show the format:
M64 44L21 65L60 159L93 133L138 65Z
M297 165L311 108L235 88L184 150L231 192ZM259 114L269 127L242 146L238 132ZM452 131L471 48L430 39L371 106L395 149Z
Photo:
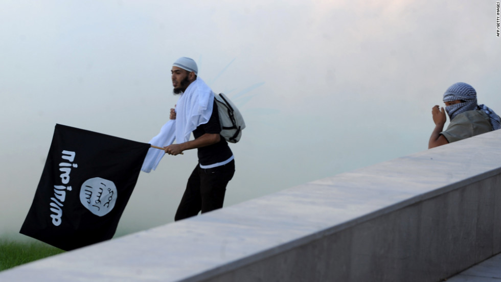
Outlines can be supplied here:
M214 95L219 112L219 122L221 123L221 136L227 142L237 143L242 136L242 129L245 128L242 114L226 95L219 93Z

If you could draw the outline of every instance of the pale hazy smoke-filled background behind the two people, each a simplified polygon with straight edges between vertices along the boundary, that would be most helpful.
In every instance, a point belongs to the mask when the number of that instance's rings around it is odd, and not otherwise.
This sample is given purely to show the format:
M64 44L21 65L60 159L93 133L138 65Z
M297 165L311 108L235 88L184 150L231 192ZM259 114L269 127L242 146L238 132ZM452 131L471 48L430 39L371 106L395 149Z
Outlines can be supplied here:
M225 206L426 150L453 83L501 114L495 1L214 3L0 1L0 238L24 237L55 124L148 142L181 56L247 124ZM173 221L195 165L141 173L117 233Z

